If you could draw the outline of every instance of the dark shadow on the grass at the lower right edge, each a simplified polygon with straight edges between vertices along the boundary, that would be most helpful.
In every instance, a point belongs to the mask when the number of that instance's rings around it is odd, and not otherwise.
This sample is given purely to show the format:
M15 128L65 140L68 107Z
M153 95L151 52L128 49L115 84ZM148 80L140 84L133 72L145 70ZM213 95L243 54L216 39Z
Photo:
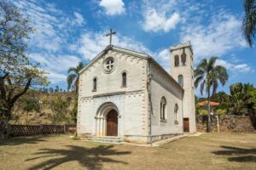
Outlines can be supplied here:
M248 162L256 161L256 149L244 149L233 146L221 146L225 150L212 151L215 155L230 156L229 161ZM232 156L232 157L231 157Z

